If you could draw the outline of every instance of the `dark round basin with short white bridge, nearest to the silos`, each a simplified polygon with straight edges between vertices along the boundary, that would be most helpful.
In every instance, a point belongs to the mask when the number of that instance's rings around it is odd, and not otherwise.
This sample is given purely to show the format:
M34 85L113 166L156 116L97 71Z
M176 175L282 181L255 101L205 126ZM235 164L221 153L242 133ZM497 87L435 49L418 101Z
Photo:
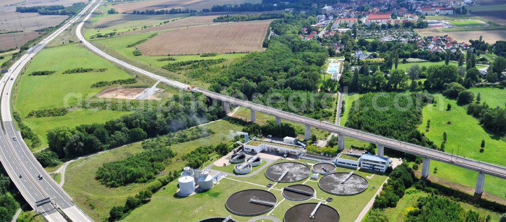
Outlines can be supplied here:
M251 199L269 202L269 204L261 204L252 202ZM250 189L236 192L228 197L225 207L233 214L240 216L257 216L273 209L276 204L276 196L265 190Z

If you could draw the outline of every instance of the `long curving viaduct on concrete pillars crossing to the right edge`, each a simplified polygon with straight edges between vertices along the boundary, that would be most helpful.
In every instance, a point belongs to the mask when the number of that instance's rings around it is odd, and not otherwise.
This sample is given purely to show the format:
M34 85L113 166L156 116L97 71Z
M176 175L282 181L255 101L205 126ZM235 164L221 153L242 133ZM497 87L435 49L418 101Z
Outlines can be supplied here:
M338 146L339 146L340 150L344 149L344 145L345 145L344 138L351 137L351 138L359 139L362 141L367 141L370 143L377 144L379 155L383 155L385 147L388 147L391 149L399 150L401 152L405 152L405 153L409 153L409 154L413 154L413 155L417 155L417 156L423 156L424 157L424 165L423 165L422 176L424 178L427 178L429 176L429 164L430 164L431 159L446 162L446 163L453 164L453 165L457 165L462 168L470 169L470 170L478 172L478 181L476 183L476 189L475 189L475 194L477 194L477 195L481 195L483 192L483 185L485 182L485 174L489 174L489 175L492 175L495 177L506 179L506 168L499 166L499 165L494 165L494 164L481 162L481 161L468 159L468 158L463 158L463 157L455 157L455 156L450 155L448 153L441 152L441 151L434 150L434 149L430 149L427 147L423 147L423 146L419 146L419 145L415 145L415 144L411 144L411 143L406 143L406 142L398 141L395 139L390 139L390 138L386 138L383 136L378 136L378 135L362 132L362 131L355 130L355 129L342 127L342 126L335 125L335 124L328 123L328 122L314 120L311 118L307 118L307 117L299 116L296 114L284 112L282 110L275 109L272 107L268 107L268 106L256 104L253 102L230 97L227 95L222 95L219 93L211 92L211 91L208 91L205 89L201 89L201 88L197 88L197 87L193 88L187 84L184 84L184 83L181 83L181 82L178 82L175 80L170 80L165 77L162 77L162 76L156 75L154 73L151 73L149 71L138 68L136 66L133 66L127 62L116 59L116 58L112 57L111 55L105 53L104 51L97 48L95 45L91 44L89 41L87 41L84 38L84 36L82 36L81 27L85 23L85 21L90 17L92 12L90 12L90 14L77 26L77 29L76 29L76 35L79 38L79 40L82 42L83 45L85 45L86 47L88 47L90 50L97 53L101 57L103 57L103 58L121 66L121 67L124 67L125 69L140 73L145 76L148 76L154 80L160 81L162 83L173 86L175 88L179 88L179 89L183 89L183 90L190 90L192 92L199 92L211 99L220 100L220 101L222 101L223 109L227 113L230 112L230 105L232 104L235 106L242 106L245 108L249 108L251 110L250 113L251 113L251 120L252 121L256 120L256 112L260 112L260 113L274 116L276 118L277 124L281 123L281 119L301 123L306 126L305 127L305 138L306 139L309 139L309 137L311 135L311 128L312 127L326 130L326 131L329 131L329 132L339 135Z

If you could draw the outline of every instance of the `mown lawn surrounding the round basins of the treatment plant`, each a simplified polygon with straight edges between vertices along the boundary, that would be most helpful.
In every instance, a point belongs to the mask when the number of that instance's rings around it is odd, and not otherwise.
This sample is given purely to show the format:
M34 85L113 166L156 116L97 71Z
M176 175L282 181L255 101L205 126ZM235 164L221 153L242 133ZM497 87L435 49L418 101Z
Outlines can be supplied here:
M276 162L280 161L286 160L278 160ZM300 161L306 162L305 160ZM338 167L336 171L350 172L351 170ZM244 189L256 188L267 190L265 185L268 183L274 184L274 182L268 180L265 177L264 173L265 169L262 172L259 172L257 175L248 178L236 178L227 176L227 178L222 179L219 184L215 185L215 187L209 191L195 194L186 198L179 198L175 195L177 190L177 182L174 181L168 184L165 190L161 190L153 195L150 203L132 211L132 213L127 216L124 221L154 221L157 218L164 218L167 221L180 221L181 218L185 218L188 221L196 221L212 216L226 217L228 215L233 215L225 208L224 203L226 199L231 194ZM372 174L364 172L356 173L363 177L372 176ZM326 199L327 197L334 198L334 200L332 202L329 202L328 205L334 207L339 211L341 221L353 221L358 216L358 213L362 210L365 204L370 200L372 195L376 192L376 190L372 189L371 187L379 187L379 185L381 185L385 179L386 176L384 175L374 175L372 178L367 179L369 182L369 188L363 193L354 196L335 196L325 193L318 188L316 180L312 179L298 183L305 183L306 185L313 187L316 191L316 198L318 199ZM276 195L277 202L280 204L277 205L269 215L273 215L277 218L282 218L285 211L293 205L304 202L318 202L318 199L311 199L303 202L294 202L286 199L283 200L281 191L277 189L284 188L291 184L293 183L278 183L274 185L275 189L270 190L270 192ZM233 215L233 218L238 221L245 222L250 217Z

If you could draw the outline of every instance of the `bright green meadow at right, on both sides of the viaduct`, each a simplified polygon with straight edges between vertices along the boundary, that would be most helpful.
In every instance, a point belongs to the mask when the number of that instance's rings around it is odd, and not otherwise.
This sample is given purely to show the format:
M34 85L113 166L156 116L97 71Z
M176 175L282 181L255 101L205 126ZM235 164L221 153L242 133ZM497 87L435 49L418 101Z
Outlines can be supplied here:
M480 125L478 120L466 114L462 106L458 106L455 100L443 98L441 94L435 95L436 106L427 105L423 109L423 123L418 130L438 146L443 142L443 132L447 133L447 142L445 152L458 156L482 160L494 164L506 165L506 159L503 158L503 148L506 142L494 135L488 134ZM446 105L451 104L451 110L446 111ZM429 132L425 132L427 120L431 120ZM448 122L451 122L448 124ZM485 140L485 151L481 153L480 143ZM433 174L434 168L438 168L438 173ZM476 185L478 173L462 169L442 162L431 161L431 175L438 180L448 183L455 183L468 187L468 192L473 191ZM485 192L506 200L506 188L503 184L506 180L486 176Z

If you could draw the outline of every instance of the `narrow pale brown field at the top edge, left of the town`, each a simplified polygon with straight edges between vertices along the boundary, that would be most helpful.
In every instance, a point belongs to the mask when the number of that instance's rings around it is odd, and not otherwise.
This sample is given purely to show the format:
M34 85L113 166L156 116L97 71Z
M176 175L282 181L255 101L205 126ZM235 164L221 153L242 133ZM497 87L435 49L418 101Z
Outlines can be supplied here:
M158 10L158 9L193 9L202 10L210 9L214 5L240 5L242 3L260 3L260 0L155 0L135 3L122 3L111 6L119 13L131 13L134 10Z

